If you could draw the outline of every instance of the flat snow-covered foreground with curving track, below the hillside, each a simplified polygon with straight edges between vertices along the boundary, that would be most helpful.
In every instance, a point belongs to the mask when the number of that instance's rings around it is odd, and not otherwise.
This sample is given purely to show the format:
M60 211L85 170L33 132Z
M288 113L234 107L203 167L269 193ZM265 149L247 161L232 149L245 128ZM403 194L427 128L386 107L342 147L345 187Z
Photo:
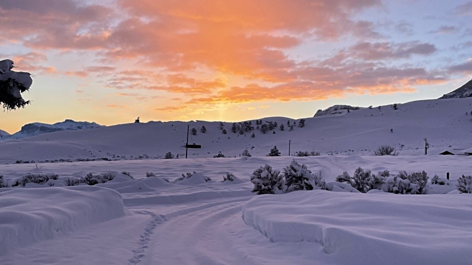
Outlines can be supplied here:
M429 179L434 174L444 178L446 172L450 172L452 185L428 184L431 192L450 193L431 195L323 190L280 195L251 193L250 175L255 169L270 164L281 170L293 159L312 172L321 173L328 183L343 171L352 174L361 166L373 172L425 170ZM134 179L118 173L122 171L133 175ZM176 181L182 173L194 171L195 180L191 176L187 181ZM2 264L472 262L472 198L470 194L457 194L455 190L456 180L472 172L470 158L464 156L5 164L0 165L0 172L10 184L27 173L55 172L59 174L55 185L88 172L116 174L112 181L94 187L35 188L29 185L31 188L0 189L2 211L8 207L8 212L16 218L8 221L8 229L29 226L17 234L14 244L6 243L4 250L7 251L0 252ZM155 176L146 178L146 173L151 172ZM237 181L222 182L226 172L232 172ZM204 181L208 178L211 180ZM116 191L121 193L122 201ZM10 199L4 200L2 194L8 194ZM120 203L124 203L127 210L123 210ZM104 208L104 205L109 207ZM18 222L19 217L25 215L32 217ZM37 218L43 218L38 225L33 222ZM84 224L87 219L90 221ZM2 218L0 222L5 221ZM10 231L5 229L0 226L1 235ZM30 238L34 240L29 241Z

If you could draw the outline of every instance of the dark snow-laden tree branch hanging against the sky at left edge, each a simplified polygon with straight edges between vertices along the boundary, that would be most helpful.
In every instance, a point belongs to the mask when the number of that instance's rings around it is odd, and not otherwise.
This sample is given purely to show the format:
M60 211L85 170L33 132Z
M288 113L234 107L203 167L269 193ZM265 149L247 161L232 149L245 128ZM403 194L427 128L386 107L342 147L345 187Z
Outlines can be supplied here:
M33 83L30 73L11 71L13 64L9 59L0 61L0 104L7 110L30 103L22 98L21 93L28 91Z

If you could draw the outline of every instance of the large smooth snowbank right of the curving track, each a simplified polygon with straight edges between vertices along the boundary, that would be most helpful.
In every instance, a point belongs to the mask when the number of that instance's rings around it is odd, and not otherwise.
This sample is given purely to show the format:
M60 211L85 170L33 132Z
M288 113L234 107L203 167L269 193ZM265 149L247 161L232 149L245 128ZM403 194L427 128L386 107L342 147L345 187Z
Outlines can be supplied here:
M296 191L255 196L243 206L243 219L272 242L318 242L325 253L356 264L446 264L451 256L467 264L471 198ZM366 249L373 255L359 255Z

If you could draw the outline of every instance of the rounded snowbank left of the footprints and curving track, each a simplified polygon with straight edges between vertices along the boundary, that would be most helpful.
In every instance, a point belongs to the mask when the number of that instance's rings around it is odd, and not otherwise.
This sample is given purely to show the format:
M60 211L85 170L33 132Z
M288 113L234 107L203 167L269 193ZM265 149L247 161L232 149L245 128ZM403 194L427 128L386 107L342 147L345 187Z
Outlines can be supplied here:
M0 190L3 253L127 214L121 195L94 186Z

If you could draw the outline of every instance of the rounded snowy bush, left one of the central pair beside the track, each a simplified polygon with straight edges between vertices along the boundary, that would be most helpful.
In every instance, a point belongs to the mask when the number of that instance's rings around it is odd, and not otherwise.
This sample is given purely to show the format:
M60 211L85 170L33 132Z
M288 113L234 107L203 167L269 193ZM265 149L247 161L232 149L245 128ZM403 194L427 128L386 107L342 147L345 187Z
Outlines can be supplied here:
M254 184L252 192L259 194L278 194L283 190L283 178L279 170L274 170L268 164L254 170L251 175Z

